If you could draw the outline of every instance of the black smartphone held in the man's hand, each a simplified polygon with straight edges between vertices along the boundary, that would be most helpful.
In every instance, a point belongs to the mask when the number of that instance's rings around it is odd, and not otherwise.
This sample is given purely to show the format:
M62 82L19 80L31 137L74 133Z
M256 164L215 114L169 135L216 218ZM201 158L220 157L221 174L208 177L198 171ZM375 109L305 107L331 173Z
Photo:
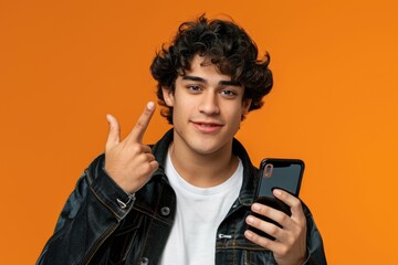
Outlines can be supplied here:
M277 188L298 198L304 173L304 161L301 159L266 158L261 161L259 173L260 180L255 192L255 202L272 206L287 215L292 215L290 206L276 199L272 191ZM269 218L256 213L252 214L282 227L279 223ZM250 230L253 230L253 232L259 235L274 240L271 235L254 227L250 227Z

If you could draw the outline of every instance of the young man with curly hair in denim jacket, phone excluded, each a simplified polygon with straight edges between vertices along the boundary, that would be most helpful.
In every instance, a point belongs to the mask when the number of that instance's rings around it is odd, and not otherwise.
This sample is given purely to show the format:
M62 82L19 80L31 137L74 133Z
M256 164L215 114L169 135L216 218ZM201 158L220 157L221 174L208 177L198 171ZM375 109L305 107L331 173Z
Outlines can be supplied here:
M298 199L274 191L291 216L253 203L258 170L233 138L272 87L269 59L233 22L182 23L150 67L174 128L146 146L154 103L124 140L108 115L105 153L78 180L38 264L326 264Z

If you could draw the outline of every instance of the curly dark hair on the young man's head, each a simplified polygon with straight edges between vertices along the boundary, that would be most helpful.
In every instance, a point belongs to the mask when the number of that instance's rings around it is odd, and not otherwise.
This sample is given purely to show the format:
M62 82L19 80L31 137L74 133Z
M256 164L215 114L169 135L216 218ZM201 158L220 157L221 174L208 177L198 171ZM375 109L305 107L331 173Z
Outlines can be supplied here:
M249 112L261 108L273 80L269 53L262 60L258 54L255 43L232 21L208 20L203 14L196 21L181 23L171 44L164 44L150 65L151 75L158 82L158 103L166 107L161 115L172 124L172 107L166 105L161 88L174 93L178 75L190 70L195 55L209 59L221 74L244 86L243 100L252 99Z

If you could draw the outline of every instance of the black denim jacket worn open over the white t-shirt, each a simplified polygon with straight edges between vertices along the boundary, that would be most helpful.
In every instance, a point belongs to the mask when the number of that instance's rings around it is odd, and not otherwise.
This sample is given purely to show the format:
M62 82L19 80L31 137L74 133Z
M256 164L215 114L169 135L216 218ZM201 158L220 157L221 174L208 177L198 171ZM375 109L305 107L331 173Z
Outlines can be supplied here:
M36 264L158 264L176 212L176 194L164 171L171 141L169 130L153 147L159 169L135 195L127 194L106 174L104 155L97 157L77 181ZM218 229L216 264L276 264L272 252L243 235L259 177L235 139L233 153L243 163L243 184ZM310 210L304 204L303 208L307 219L305 264L326 264L321 234Z

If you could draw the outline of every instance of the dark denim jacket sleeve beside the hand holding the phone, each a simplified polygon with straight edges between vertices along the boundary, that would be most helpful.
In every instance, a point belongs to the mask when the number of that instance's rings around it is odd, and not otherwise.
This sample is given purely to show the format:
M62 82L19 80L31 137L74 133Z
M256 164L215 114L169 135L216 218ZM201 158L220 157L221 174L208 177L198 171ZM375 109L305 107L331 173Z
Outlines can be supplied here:
M304 214L307 220L307 250L308 256L304 265L326 265L326 255L321 233L308 208L303 203Z

